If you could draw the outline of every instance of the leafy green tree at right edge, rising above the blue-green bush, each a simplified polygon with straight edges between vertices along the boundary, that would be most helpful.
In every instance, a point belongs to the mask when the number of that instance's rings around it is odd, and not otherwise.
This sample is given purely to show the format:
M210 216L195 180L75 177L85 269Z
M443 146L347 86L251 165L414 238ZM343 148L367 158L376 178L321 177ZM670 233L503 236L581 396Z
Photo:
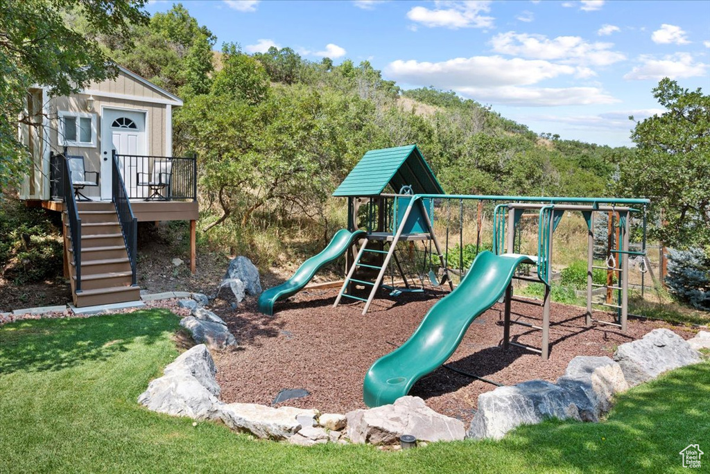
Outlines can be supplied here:
M620 164L619 192L651 199L667 246L710 246L710 96L668 78L653 89L667 111L636 123L636 152ZM633 119L633 117L631 117Z

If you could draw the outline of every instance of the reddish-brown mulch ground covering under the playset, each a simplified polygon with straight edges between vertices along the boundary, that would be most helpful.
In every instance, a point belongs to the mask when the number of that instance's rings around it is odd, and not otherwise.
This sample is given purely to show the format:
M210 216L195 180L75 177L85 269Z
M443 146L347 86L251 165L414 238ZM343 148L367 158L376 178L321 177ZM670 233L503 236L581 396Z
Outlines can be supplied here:
M362 382L370 365L399 346L413 333L427 310L444 293L382 294L370 312L362 303L332 304L337 290L301 292L275 305L275 316L256 312L250 299L235 310L229 304L213 308L229 325L242 350L216 356L217 380L225 402L271 404L285 388L304 388L311 395L283 404L317 408L321 412L349 412L366 408ZM542 309L513 302L513 318L540 324ZM596 314L611 321L611 316ZM459 370L504 385L541 378L555 381L576 355L611 356L621 343L640 338L652 329L667 327L684 338L693 336L680 326L660 321L629 319L626 334L613 326L585 326L584 309L552 304L550 360L511 347L503 351L503 305L496 304L471 324L449 360ZM513 341L540 346L541 331L513 325ZM468 423L479 394L493 385L439 368L417 382L410 395L426 400L437 412Z

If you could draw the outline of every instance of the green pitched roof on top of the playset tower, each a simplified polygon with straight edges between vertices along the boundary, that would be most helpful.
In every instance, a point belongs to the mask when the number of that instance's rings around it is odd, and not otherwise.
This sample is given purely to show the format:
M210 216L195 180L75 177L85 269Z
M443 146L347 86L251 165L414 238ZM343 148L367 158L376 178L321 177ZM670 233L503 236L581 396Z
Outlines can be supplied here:
M408 185L415 194L444 194L417 145L370 150L333 196L376 196L390 184L395 192Z

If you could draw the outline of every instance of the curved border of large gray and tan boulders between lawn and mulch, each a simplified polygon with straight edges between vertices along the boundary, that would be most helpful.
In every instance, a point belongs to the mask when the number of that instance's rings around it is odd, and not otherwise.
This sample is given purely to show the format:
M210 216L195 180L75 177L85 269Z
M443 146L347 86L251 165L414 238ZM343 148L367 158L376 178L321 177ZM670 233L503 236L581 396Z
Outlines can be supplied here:
M165 367L163 377L151 381L138 403L155 412L219 420L234 431L299 446L368 443L396 450L403 434L415 436L424 445L464 438L501 439L521 424L537 424L550 417L600 421L613 406L613 398L629 387L667 370L701 362L701 354L692 346L710 348L710 333L701 331L685 341L669 329L655 329L618 346L613 360L577 356L555 383L529 380L479 395L479 409L467 431L462 421L435 412L419 397L400 397L394 404L344 415L321 414L317 409L226 404L217 398L217 368L204 344Z

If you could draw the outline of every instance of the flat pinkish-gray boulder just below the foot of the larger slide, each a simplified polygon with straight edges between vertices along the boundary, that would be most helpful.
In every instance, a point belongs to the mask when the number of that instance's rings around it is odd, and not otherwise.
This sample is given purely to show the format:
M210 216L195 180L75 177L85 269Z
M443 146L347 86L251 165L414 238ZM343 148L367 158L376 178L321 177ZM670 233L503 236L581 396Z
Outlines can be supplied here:
M400 397L394 404L346 414L347 437L353 443L393 444L403 434L419 441L464 439L464 423L427 407L419 397Z

